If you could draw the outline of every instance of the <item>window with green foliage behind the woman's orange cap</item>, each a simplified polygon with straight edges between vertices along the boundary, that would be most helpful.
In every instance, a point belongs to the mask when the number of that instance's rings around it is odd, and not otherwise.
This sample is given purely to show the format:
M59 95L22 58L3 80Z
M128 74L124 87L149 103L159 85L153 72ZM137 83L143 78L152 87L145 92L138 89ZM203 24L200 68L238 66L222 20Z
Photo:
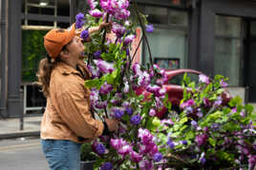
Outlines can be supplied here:
M22 7L22 88L24 112L41 113L46 99L39 92L35 74L39 61L46 57L44 35L52 28L70 26L69 0L23 0Z

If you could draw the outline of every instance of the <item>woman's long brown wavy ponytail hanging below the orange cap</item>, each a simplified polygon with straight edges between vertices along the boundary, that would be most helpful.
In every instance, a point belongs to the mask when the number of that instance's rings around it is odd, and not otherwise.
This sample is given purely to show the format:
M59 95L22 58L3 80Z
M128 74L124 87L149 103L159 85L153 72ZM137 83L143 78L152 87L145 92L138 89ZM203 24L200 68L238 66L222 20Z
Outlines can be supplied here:
M58 59L57 57L56 59ZM50 90L50 80L51 80L51 74L53 71L53 68L55 64L58 62L58 60L53 60L49 55L47 55L46 58L43 58L38 66L38 71L36 73L36 77L38 78L38 82L36 82L36 85L39 85L41 87L41 90L45 97L49 96Z

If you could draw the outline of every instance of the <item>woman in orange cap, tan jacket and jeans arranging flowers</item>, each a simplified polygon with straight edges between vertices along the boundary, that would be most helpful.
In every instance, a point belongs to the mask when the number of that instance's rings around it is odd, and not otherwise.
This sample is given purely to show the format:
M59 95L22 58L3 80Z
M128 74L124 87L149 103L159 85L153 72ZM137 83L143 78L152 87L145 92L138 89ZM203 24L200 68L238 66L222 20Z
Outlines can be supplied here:
M89 35L102 23L89 28ZM80 31L71 28L53 28L44 37L48 57L42 59L37 72L38 85L47 98L41 123L41 143L52 170L79 170L80 146L109 131L117 131L116 120L104 122L93 118L90 111L90 90L84 81L90 72L79 59L84 50Z

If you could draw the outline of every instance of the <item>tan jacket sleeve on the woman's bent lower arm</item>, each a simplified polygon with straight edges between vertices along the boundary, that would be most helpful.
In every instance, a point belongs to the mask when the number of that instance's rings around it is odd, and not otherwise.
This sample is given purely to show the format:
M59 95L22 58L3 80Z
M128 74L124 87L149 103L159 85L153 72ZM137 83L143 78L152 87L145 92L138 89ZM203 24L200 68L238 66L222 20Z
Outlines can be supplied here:
M104 130L104 124L95 120L90 111L90 96L84 93L65 91L55 100L61 118L78 137L95 139Z

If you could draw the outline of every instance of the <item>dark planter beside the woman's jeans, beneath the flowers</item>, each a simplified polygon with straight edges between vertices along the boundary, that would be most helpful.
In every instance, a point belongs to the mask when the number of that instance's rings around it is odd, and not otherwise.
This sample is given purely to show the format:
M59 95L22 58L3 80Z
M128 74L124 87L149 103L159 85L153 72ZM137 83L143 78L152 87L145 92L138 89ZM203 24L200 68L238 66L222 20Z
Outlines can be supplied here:
M91 142L83 143L81 146L80 169L93 170L95 161L96 161L96 155L92 150Z

